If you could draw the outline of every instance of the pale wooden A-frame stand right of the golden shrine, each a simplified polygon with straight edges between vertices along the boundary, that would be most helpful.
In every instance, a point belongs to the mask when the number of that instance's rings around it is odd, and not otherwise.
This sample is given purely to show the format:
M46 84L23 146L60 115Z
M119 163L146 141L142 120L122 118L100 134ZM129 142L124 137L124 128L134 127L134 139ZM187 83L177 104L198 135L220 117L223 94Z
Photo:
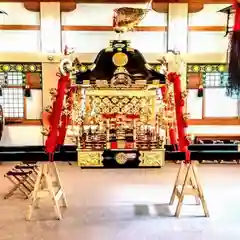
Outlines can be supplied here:
M182 162L179 168L170 200L170 205L172 205L174 203L175 197L178 198L178 205L175 212L176 217L180 216L185 195L194 196L197 205L200 205L202 203L205 217L209 217L203 190L197 177L196 166L194 165L194 162Z

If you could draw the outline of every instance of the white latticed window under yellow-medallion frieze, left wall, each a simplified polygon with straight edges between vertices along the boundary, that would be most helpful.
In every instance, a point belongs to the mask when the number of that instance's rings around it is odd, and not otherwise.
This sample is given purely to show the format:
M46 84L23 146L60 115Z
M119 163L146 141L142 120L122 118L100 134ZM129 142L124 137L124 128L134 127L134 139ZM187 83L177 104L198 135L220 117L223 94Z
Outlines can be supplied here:
M39 74L40 64L0 64L0 81L6 82L1 89L0 105L6 119L25 119L24 86L26 74Z

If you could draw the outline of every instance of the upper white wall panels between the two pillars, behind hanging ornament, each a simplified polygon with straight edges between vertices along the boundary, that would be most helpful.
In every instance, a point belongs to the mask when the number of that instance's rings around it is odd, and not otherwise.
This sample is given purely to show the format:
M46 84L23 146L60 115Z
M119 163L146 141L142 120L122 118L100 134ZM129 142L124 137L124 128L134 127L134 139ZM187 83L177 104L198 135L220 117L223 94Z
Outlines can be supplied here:
M78 4L73 12L62 13L62 25L112 26L113 10L128 4ZM144 4L134 4L134 7ZM140 26L167 26L167 14L150 11ZM62 45L74 47L79 53L97 53L109 46L109 41L117 39L112 31L63 31ZM166 32L128 32L122 39L130 40L131 46L143 53L163 53L166 51Z

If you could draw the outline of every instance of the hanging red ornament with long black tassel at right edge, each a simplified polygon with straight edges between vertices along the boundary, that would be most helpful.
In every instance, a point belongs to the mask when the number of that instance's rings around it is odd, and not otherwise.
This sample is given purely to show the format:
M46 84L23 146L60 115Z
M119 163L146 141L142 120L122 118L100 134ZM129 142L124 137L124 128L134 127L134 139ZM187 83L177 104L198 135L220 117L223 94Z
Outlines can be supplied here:
M226 35L229 34L228 60L228 84L227 95L240 98L240 3L234 0L232 6L219 12L227 14Z

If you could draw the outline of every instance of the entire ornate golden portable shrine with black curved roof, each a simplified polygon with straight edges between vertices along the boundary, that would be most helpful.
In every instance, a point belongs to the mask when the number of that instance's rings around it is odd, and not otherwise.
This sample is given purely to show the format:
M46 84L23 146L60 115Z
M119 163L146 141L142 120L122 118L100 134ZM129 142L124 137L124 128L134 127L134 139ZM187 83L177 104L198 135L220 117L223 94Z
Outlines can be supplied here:
M111 41L94 63L76 64L77 107L68 136L77 144L79 166L164 165L162 68L123 40Z

